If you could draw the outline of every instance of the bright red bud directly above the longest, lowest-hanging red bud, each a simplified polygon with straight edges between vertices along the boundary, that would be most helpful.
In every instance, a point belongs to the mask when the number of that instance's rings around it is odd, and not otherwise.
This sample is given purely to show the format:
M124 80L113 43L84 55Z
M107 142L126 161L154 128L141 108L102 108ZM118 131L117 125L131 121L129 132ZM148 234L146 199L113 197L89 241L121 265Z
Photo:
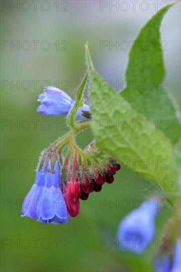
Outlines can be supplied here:
M72 202L76 202L79 200L81 195L81 187L78 179L78 173L76 173L74 181L72 181L71 174L68 179L68 195Z

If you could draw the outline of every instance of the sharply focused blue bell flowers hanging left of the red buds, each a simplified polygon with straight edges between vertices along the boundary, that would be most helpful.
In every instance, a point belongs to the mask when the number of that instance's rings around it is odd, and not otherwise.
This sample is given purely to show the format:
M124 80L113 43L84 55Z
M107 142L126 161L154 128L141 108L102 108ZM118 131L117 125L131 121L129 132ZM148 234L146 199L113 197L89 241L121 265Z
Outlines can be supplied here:
M37 171L35 183L24 199L22 217L38 218L42 223L68 223L69 214L59 187L60 172L55 162L53 172L50 162L44 172L44 166Z

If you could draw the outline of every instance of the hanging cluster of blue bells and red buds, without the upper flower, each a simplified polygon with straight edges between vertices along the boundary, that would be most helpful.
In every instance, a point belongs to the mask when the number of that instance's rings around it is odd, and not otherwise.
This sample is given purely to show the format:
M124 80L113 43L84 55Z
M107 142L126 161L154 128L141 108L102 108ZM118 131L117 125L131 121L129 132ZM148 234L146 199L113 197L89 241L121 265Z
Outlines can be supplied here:
M67 223L70 216L78 215L79 199L88 199L90 192L99 192L105 182L114 181L113 175L121 168L116 160L108 154L94 159L92 153L96 156L98 150L93 142L85 150L90 161L72 149L64 160L57 151L43 152L22 216L38 218L42 223Z

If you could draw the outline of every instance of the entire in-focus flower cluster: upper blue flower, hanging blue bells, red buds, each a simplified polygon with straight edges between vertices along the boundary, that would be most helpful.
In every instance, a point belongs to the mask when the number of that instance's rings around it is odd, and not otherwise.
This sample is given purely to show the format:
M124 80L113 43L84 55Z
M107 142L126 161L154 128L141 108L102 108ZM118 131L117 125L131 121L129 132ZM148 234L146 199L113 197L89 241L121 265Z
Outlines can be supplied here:
M46 87L39 98L38 112L45 115L67 115L74 106L69 95L54 87ZM76 117L88 120L90 107L86 104L79 107ZM121 166L99 151L94 142L85 150L79 148L76 133L70 131L42 153L35 183L23 202L22 216L37 218L45 224L68 223L70 216L78 215L80 199L88 199L90 192L99 192L105 182L114 181L113 175ZM68 146L65 158L64 146Z

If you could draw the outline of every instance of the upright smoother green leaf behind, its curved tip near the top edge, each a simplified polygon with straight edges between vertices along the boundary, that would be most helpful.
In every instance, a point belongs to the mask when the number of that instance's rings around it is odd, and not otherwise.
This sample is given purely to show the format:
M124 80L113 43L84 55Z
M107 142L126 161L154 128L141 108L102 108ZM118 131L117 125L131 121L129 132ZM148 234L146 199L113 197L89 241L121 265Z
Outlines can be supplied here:
M173 144L179 140L180 123L173 101L168 91L164 90L167 89L167 82L164 80L160 25L167 10L174 4L160 9L139 32L130 51L127 88L121 92L133 108L162 130Z

